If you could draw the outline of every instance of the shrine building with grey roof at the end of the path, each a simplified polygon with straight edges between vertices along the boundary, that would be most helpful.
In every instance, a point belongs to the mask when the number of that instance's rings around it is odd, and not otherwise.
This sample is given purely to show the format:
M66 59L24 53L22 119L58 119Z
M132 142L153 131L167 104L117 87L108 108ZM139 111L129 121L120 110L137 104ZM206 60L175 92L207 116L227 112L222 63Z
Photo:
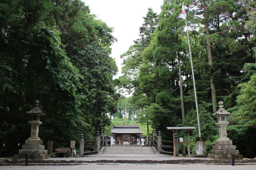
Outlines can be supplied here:
M142 135L140 125L116 125L112 127L111 132L115 136L107 136L107 139L113 138L114 145L140 145Z

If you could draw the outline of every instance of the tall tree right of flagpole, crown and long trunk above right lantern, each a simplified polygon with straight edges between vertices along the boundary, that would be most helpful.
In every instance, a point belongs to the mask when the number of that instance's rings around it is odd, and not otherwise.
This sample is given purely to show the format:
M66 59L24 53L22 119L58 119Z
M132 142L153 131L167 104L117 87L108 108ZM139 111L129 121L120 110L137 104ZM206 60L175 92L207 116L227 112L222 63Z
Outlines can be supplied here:
M226 30L221 30L221 23L228 21L232 17L232 13L235 11L234 1L191 1L192 7L197 7L196 10L192 10L192 14L195 16L195 20L204 25L205 36L204 40L206 43L208 63L209 63L209 73L212 89L212 107L213 113L217 111L217 94L216 86L214 80L214 66L212 60L212 43L218 37L223 36L223 32ZM201 17L202 16L202 17ZM210 30L210 28L213 28Z

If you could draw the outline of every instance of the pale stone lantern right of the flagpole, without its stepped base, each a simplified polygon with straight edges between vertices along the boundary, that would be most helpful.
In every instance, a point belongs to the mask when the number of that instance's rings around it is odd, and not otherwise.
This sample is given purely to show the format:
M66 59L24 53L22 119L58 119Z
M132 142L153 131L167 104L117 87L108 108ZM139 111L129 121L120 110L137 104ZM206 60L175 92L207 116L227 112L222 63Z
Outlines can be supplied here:
M218 122L216 125L219 127L219 132L220 132L220 138L218 140L230 140L227 137L227 126L229 122L227 121L227 116L231 115L228 111L224 109L223 102L219 102L219 107L220 109L213 114L212 116L218 118Z

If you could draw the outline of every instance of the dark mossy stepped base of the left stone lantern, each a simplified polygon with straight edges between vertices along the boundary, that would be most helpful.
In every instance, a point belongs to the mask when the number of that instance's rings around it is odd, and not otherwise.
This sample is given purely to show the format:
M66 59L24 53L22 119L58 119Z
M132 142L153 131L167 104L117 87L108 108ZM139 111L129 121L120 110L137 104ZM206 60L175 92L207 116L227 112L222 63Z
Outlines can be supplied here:
M19 150L19 154L14 155L13 159L26 159L26 155L28 155L28 159L50 158L50 155L47 155L47 150L44 149L43 141L38 139L27 139L25 145L22 145L22 149Z

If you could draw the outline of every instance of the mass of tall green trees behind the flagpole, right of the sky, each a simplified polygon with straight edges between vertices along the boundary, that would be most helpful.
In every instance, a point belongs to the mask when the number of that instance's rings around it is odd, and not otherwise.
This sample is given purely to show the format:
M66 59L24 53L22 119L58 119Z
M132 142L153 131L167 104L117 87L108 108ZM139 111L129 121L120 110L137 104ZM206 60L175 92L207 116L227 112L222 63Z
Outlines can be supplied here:
M154 23L154 31L147 37L141 34L121 55L124 75L117 80L123 91L133 92L129 108L137 110L138 121L161 131L164 140L172 139L167 126L197 127L186 24L180 18L182 2L164 0L158 20L149 9L142 26ZM185 5L206 152L219 135L212 114L217 101L224 101L232 113L228 137L244 157L254 158L255 2L188 0ZM184 132L178 135L187 140ZM197 136L198 131L191 132L192 141ZM195 153L195 145L191 150Z

